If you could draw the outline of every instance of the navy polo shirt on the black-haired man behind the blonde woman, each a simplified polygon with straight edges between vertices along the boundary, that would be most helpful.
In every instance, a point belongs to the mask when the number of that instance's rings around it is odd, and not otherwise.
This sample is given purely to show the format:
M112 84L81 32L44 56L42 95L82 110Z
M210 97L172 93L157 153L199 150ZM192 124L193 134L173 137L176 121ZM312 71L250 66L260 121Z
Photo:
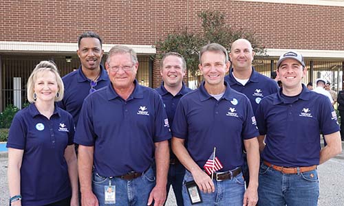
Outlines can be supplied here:
M109 76L102 65L100 65L100 72L94 89L100 89L109 84ZM62 80L65 85L65 94L63 100L57 104L73 116L74 123L77 126L81 106L83 106L83 101L89 95L89 89L91 89L91 80L86 78L81 66L78 70L68 73Z

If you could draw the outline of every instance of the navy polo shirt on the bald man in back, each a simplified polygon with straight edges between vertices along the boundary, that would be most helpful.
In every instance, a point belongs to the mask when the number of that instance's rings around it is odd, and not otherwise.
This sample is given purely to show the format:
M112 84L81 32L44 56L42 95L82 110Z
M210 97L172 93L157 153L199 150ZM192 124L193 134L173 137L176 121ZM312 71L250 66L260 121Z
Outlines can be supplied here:
M277 82L268 78L267 76L262 75L255 71L252 67L252 74L250 79L245 85L242 85L240 82L237 82L233 77L233 69L230 69L229 74L224 78L232 89L244 93L250 100L253 108L253 112L257 110L257 106L261 99L272 94L277 93L279 90Z

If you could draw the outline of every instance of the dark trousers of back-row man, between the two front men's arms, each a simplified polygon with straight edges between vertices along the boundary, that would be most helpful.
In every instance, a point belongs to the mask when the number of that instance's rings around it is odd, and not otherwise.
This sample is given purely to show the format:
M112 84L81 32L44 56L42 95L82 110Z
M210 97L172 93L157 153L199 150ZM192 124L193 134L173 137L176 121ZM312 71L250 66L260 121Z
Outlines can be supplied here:
M166 194L169 194L172 185L175 194L175 200L178 206L183 206L182 185L185 174L185 168L182 163L170 165L169 176L167 176Z

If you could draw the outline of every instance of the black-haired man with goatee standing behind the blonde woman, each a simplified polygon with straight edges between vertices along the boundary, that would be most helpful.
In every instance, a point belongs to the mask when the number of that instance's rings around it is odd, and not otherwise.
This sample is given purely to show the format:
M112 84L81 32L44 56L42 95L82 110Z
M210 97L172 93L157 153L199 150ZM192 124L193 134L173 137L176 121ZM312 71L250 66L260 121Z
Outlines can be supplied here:
M100 65L103 57L102 40L94 32L85 32L78 37L77 54L80 67L62 78L65 85L63 100L58 106L69 112L77 126L83 100L97 89L107 86L109 77Z

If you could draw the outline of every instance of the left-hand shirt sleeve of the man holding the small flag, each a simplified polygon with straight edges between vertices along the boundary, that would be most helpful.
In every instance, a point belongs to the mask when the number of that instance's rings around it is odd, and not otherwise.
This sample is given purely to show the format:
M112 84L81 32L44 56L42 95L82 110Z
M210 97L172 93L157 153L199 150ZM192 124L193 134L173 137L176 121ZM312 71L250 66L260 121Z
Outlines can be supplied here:
M184 98L180 99L177 108L175 109L175 115L172 125L172 136L180 139L187 139L188 136L188 122L184 106Z

